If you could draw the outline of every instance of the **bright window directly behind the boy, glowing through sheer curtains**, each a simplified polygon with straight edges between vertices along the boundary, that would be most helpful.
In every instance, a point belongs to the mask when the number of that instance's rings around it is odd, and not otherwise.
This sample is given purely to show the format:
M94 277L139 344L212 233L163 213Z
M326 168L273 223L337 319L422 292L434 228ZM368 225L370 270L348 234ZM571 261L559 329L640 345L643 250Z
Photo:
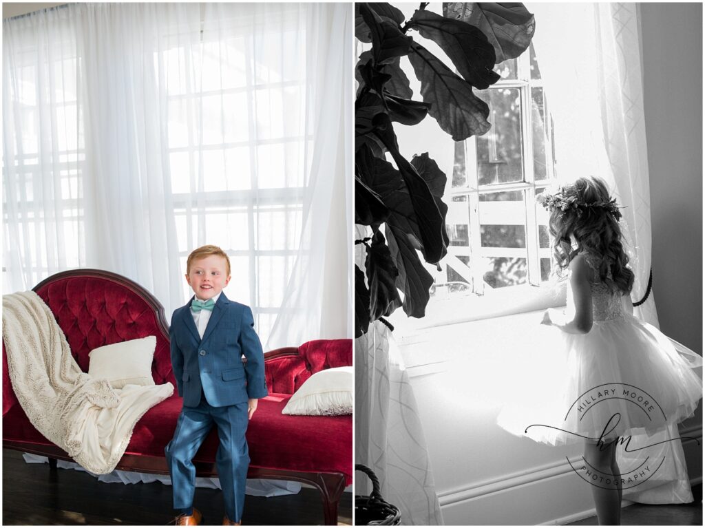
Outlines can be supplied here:
M155 61L168 72L168 158L181 268L185 273L198 240L223 248L233 275L224 292L250 305L258 331L267 335L303 222L312 145L312 131L305 130L305 29L293 24L288 30L286 13L283 30L264 37L240 30L242 20L233 22L222 40L209 42L205 32L200 46L170 47ZM287 56L296 57L295 67ZM192 295L183 286L185 297Z

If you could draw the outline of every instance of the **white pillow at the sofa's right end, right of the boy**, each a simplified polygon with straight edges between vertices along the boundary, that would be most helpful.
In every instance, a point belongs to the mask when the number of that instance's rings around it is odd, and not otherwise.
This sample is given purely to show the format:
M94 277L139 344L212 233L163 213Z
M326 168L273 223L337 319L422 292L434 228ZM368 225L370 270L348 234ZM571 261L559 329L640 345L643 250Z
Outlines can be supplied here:
M282 410L283 415L353 414L353 367L317 372L307 379Z

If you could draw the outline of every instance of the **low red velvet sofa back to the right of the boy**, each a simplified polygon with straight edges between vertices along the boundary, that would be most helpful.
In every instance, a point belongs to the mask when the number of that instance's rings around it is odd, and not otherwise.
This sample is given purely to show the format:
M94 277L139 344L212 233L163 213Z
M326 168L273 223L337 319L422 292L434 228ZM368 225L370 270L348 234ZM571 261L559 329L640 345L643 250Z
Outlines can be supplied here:
M269 391L293 394L312 374L324 369L350 367L353 364L353 341L318 339L291 349L290 355L266 360L265 376Z

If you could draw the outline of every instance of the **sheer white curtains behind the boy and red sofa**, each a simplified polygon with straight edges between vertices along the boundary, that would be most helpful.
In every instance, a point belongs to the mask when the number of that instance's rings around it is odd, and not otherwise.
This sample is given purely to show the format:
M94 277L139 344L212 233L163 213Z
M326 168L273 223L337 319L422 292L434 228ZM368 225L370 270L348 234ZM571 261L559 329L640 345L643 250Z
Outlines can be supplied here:
M97 267L170 314L210 243L267 347L349 336L350 16L68 4L6 20L5 290Z

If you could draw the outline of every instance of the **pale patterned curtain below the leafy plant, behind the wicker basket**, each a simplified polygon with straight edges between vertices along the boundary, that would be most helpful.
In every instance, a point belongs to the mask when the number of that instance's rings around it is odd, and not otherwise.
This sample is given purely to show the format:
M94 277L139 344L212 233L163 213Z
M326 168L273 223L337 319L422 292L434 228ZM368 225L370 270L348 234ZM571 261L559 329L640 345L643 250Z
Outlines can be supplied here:
M355 238L367 235L369 228L355 227ZM355 262L364 269L365 252L356 247ZM355 339L355 463L376 474L382 498L399 508L402 524L443 524L414 388L393 333L380 321ZM371 491L358 472L355 493Z

